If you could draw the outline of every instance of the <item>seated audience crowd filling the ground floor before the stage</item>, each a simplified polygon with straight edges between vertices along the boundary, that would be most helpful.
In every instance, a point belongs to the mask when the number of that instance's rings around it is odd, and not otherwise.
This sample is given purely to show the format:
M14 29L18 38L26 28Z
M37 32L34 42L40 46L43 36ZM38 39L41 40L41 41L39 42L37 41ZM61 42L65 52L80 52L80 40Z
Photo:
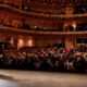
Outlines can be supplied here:
M1 69L52 72L87 72L87 53L64 48L40 48L30 51L3 52Z

